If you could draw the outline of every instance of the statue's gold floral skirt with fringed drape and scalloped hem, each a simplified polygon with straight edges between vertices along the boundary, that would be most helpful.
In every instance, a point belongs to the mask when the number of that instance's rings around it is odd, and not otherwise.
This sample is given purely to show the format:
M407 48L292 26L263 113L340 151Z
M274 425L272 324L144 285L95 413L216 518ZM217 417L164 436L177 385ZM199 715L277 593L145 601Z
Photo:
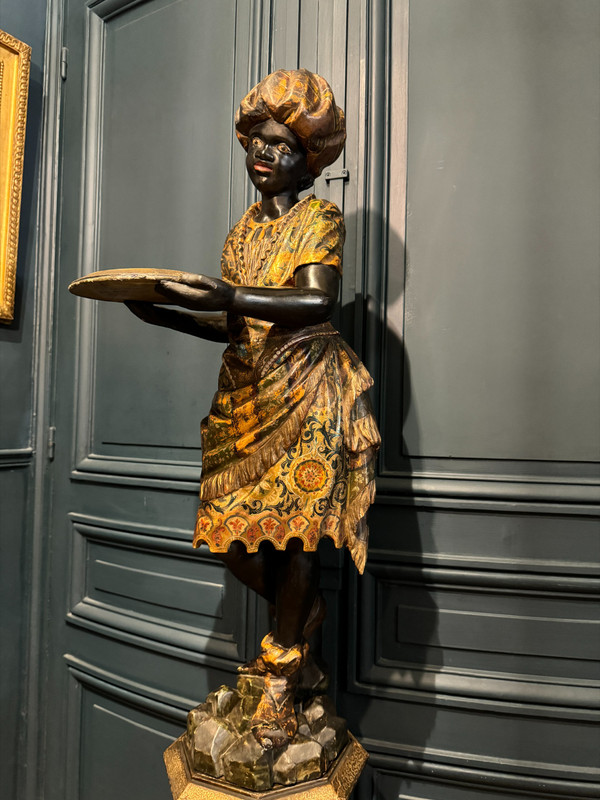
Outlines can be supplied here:
M257 364L228 348L211 414L194 546L344 545L360 572L379 434L372 380L329 325L275 334Z

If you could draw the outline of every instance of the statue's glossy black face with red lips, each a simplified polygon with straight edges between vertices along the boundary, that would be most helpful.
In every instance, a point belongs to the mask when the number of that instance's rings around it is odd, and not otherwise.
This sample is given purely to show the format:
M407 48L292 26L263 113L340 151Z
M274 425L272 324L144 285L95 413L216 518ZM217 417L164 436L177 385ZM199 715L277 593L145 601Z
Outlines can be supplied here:
M308 175L306 153L289 128L268 119L255 125L248 138L246 168L258 191L267 196L298 192Z

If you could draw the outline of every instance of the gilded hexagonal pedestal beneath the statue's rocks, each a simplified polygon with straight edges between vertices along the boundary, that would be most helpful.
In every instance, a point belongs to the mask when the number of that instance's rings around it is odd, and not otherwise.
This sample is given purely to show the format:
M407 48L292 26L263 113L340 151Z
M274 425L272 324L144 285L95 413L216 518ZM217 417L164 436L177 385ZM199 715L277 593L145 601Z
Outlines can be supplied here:
M348 734L348 744L322 778L251 792L193 772L186 755L185 734L165 750L164 757L173 800L347 800L368 758L366 750Z

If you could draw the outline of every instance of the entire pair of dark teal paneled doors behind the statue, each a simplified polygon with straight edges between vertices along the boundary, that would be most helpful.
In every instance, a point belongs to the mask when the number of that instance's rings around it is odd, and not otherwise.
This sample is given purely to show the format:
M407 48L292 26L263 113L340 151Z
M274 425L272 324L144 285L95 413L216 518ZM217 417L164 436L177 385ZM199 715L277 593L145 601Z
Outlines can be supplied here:
M595 796L595 0L66 11L46 800L164 798L160 751L265 631L190 547L219 347L66 285L217 274L252 199L235 105L296 66L347 111L350 180L316 193L344 209L341 328L383 434L365 575L323 547L332 694L370 753L356 796Z

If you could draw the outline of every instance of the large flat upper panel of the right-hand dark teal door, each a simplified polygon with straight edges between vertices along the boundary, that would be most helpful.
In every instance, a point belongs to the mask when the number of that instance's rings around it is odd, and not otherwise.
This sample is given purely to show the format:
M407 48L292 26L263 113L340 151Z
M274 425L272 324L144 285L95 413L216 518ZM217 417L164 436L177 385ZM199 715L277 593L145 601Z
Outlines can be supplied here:
M404 452L595 461L600 8L484 6L411 4Z

